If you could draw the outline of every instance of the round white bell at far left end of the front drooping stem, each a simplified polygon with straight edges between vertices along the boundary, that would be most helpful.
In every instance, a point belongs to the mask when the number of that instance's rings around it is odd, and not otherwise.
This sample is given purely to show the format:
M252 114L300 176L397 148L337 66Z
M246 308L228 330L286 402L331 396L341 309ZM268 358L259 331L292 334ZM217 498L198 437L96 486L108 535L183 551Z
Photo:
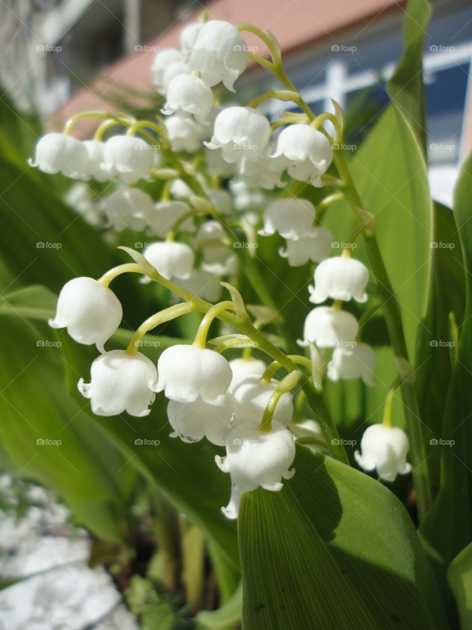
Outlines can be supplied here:
M67 328L74 341L96 345L105 352L103 344L120 326L123 309L120 300L108 287L94 278L74 278L66 282L57 299L51 328Z

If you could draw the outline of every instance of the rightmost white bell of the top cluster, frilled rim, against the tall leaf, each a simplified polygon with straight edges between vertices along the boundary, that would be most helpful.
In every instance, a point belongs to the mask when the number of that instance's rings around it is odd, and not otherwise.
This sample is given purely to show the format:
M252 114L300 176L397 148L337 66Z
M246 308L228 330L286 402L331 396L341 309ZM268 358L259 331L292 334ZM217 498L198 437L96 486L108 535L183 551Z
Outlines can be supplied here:
M277 139L274 159L284 159L289 176L298 181L309 181L322 186L321 176L333 159L329 140L310 125L289 125Z

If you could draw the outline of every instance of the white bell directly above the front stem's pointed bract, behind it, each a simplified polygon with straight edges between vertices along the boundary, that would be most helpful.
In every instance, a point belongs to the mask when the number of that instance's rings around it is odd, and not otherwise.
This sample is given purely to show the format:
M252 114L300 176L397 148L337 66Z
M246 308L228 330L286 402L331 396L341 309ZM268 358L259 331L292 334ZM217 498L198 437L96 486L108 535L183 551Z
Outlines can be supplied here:
M167 280L189 278L195 262L193 249L177 242L151 243L143 251L143 256ZM150 279L143 278L143 282L150 282Z

